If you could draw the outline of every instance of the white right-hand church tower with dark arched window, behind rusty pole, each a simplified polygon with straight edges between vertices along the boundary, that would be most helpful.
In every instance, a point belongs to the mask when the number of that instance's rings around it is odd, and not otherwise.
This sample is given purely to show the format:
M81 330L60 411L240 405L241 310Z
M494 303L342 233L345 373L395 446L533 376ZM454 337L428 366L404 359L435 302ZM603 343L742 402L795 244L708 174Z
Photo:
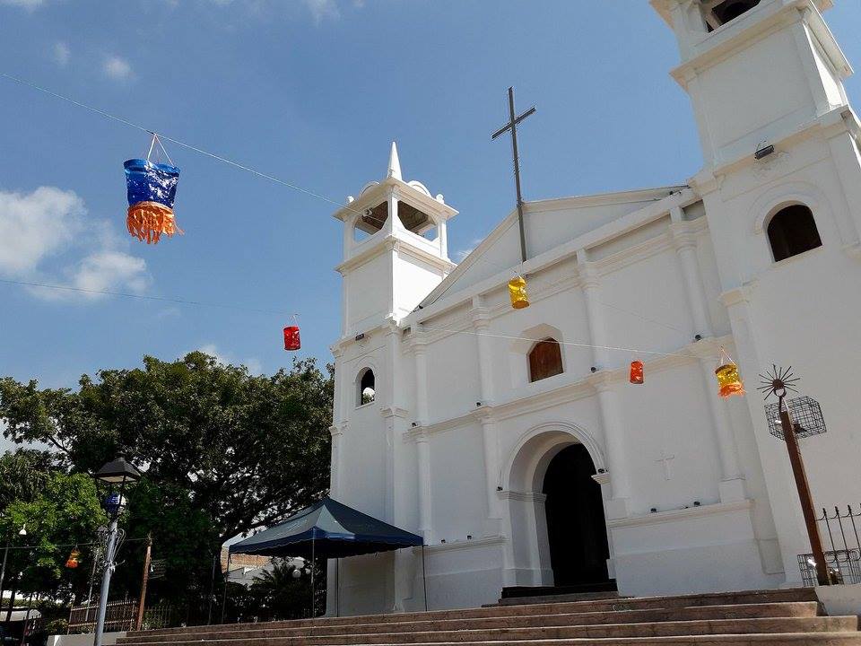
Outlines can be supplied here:
M840 406L857 398L855 365L831 340L854 335L861 316L861 124L843 88L852 68L822 18L832 2L651 3L678 41L672 74L691 97L702 145L689 184L718 266L715 306L726 322L716 332L731 336L749 389L772 362L791 365L829 423L854 428ZM734 486L737 499L757 501L763 569L797 584L810 544L786 448L770 436L759 397L727 408L749 420L741 437L760 458L761 471ZM853 472L841 446L831 435L804 450L817 507L861 492L861 477L831 476Z

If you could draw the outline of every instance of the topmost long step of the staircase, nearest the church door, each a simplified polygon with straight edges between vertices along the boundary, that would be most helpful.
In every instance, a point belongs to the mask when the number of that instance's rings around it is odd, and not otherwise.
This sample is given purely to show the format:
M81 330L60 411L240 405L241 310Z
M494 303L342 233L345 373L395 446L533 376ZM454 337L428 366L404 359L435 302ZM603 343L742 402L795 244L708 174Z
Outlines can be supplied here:
M306 625L388 624L407 621L466 619L500 616L557 615L589 612L613 612L618 610L646 610L657 608L705 607L739 604L763 604L779 602L816 601L812 588L788 588L774 590L745 590L741 592L718 592L700 595L674 595L666 597L619 598L563 603L526 604L521 606L497 606L465 608L459 610L436 610L431 612L400 613L392 615L357 615L344 617L318 617L289 622L272 622L275 627L299 627ZM197 628L165 628L148 631L148 635L191 633L199 630L222 632L249 630L255 624L222 624ZM134 635L135 633L129 633Z

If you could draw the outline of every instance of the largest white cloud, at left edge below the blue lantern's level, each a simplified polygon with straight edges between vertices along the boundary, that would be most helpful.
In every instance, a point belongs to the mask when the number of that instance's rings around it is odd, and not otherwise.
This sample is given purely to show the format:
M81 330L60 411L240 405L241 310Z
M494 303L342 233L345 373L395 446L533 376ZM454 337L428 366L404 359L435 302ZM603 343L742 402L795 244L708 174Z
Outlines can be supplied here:
M74 191L56 187L40 187L27 194L0 190L2 276L78 290L143 292L151 283L146 263L122 250L123 244L109 223L87 214ZM68 258L74 250L83 251L83 258ZM63 268L57 269L57 264ZM106 296L38 287L31 287L30 293L48 301L92 301Z

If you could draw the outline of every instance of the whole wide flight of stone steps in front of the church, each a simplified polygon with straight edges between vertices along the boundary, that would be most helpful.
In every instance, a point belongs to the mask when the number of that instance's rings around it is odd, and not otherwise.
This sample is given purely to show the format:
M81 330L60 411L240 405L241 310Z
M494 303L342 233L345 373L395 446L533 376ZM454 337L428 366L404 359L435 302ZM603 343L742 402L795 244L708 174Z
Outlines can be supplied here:
M127 633L123 646L861 646L857 616L823 616L813 589L530 603Z

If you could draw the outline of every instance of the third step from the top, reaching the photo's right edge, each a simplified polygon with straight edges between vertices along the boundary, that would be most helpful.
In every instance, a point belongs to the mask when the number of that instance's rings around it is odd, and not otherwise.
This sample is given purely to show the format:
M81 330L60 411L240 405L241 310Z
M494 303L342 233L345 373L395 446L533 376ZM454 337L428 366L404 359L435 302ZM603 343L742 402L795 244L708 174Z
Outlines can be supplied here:
M438 642L535 642L556 644L571 639L620 639L726 634L852 633L857 632L857 616L778 617L761 619L718 619L710 621L649 622L645 624L603 624L540 628L495 628L491 630L430 631L406 633L364 633L334 635L293 635L243 639L207 639L219 646L337 646L360 644L419 644ZM147 642L143 642L147 643ZM149 642L156 646L163 642ZM200 640L172 642L174 646L200 646Z

